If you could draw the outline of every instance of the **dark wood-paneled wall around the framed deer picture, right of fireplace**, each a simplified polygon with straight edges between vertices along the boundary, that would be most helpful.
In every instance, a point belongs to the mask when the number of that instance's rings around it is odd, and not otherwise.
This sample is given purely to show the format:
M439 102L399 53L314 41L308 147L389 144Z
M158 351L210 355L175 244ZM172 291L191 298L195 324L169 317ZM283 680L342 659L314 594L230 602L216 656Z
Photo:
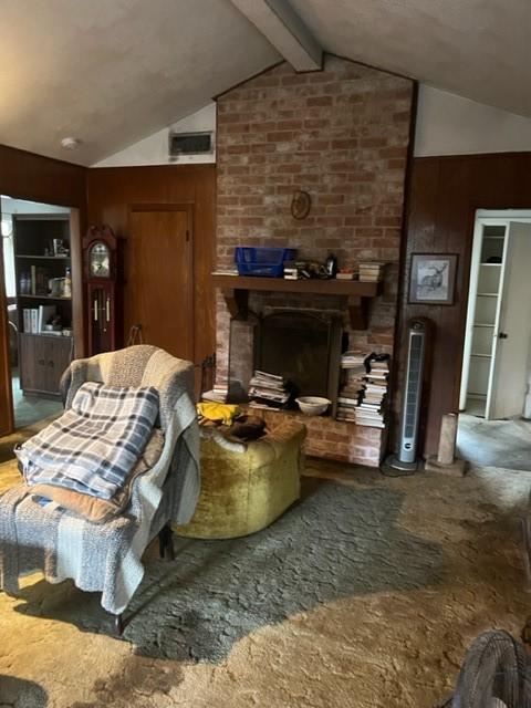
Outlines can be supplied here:
M437 450L440 418L459 407L470 257L477 209L531 209L531 153L504 153L456 157L426 157L413 162L407 240L402 266L399 343L405 358L404 334L410 317L435 324L433 361L425 400L425 454ZM407 303L412 253L457 253L454 305ZM399 406L403 372L395 379L395 406Z

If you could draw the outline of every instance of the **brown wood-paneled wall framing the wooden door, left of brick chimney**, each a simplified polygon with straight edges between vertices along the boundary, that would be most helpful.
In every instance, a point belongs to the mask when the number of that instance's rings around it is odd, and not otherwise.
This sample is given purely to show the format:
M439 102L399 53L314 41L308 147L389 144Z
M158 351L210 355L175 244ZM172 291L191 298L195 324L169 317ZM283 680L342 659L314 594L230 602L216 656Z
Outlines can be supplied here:
M199 364L215 351L210 278L215 252L215 165L102 167L87 173L88 222L108 223L121 238L127 239L132 205L184 204L194 207L195 360Z

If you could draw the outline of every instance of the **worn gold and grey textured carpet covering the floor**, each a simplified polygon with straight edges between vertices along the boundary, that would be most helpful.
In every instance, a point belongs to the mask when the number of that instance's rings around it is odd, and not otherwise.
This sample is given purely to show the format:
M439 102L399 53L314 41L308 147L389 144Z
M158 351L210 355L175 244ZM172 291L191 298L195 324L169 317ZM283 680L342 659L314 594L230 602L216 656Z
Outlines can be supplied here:
M530 473L308 473L260 533L178 540L169 564L149 552L122 639L70 583L0 595L0 676L41 701L20 705L428 708L477 634L518 634Z

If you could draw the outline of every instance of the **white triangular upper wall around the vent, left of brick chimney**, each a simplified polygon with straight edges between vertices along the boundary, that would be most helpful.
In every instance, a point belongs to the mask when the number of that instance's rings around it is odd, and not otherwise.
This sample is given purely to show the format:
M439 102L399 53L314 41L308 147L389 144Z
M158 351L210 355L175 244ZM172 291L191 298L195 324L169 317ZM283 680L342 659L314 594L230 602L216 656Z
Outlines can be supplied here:
M148 137L126 147L119 153L92 165L92 167L131 167L144 165L189 165L216 162L216 150L208 155L183 155L178 159L168 156L168 132L179 133L196 131L216 131L216 104L214 102L204 106L196 113L163 128Z

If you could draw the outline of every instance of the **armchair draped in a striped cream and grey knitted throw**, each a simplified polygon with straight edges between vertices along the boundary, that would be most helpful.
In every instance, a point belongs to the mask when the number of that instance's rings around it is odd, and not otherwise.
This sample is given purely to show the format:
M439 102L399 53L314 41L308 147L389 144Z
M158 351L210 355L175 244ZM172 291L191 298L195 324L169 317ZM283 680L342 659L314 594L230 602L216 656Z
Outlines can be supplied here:
M65 407L87 381L111 386L154 386L164 446L155 465L132 487L121 516L96 524L56 504L41 506L21 483L0 497L0 589L15 593L22 573L41 570L51 583L72 579L102 593L102 606L121 614L144 575L142 555L170 521L186 523L199 496L199 430L189 362L155 346L137 345L72 362L62 379ZM169 539L170 540L170 539Z

